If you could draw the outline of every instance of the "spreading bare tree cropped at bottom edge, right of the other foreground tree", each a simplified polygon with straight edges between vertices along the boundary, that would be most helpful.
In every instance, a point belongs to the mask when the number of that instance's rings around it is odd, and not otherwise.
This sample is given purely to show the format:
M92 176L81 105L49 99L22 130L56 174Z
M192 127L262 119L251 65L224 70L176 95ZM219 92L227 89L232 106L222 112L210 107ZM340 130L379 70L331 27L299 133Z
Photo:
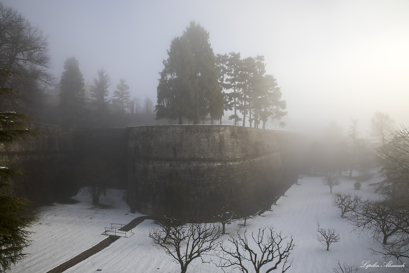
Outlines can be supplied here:
M222 244L221 253L218 253L222 254L221 260L217 266L223 271L227 267L238 268L243 273L253 269L252 272L268 273L279 266L281 272L285 272L290 268L292 259L289 259L289 256L294 248L292 237L289 241L285 241L287 237L283 237L281 232L275 233L272 227L259 228L256 236L252 232L251 239L247 237L247 230L243 235L237 232L237 238L230 235L228 241L233 244L233 247Z

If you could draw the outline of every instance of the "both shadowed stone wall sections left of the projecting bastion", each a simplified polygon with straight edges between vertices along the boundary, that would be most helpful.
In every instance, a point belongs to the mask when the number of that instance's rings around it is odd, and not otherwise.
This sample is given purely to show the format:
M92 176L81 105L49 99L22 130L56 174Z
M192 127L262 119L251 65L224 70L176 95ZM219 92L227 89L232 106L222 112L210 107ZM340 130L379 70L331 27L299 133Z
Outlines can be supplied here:
M21 169L24 174L14 181L14 195L29 199L34 206L51 204L56 191L64 188L61 175L75 177L81 162L94 158L102 158L109 166L103 170L109 187L126 189L125 128L35 124L34 130L41 135L12 145L0 144L0 166Z

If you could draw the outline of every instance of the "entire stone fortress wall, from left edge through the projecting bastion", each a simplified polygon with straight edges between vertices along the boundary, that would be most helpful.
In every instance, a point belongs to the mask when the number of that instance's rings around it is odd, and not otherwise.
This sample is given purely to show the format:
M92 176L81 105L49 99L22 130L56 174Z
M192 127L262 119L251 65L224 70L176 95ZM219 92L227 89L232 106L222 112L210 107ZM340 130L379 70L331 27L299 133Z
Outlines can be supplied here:
M297 181L299 135L228 125L72 129L37 124L42 135L0 144L0 166L22 169L15 194L35 205L54 201L64 166L103 158L110 187L155 214L170 206L206 215L213 207L254 202Z

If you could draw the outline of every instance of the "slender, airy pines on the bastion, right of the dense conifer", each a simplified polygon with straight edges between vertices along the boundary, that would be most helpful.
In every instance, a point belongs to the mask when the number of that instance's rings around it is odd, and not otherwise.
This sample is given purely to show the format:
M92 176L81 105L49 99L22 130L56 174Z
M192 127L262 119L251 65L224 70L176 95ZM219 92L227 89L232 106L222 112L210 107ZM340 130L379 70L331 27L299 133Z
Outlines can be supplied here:
M254 122L254 128L258 128L263 122L263 129L269 119L281 120L287 115L276 79L265 74L264 56L240 59L240 53L218 54L217 68L220 86L230 91L225 93L225 110L234 110L229 116L234 125L242 120L237 111L243 114L243 126L247 117L250 127Z

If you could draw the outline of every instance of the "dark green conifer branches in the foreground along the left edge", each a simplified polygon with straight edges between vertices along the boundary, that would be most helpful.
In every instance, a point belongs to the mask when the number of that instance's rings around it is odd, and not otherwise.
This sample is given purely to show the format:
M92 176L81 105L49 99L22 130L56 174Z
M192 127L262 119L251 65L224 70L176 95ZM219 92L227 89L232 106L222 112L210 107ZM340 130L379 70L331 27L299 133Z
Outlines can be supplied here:
M11 75L0 69L1 78ZM9 88L0 87L0 97L7 97L16 92ZM31 120L18 112L0 112L0 144L12 144L24 140L37 133L31 130L27 123ZM0 166L0 271L6 271L12 264L16 264L25 254L23 249L30 244L30 232L25 230L34 221L33 217L25 214L29 201L24 198L10 196L13 192L12 179L20 176L19 169L9 169Z

